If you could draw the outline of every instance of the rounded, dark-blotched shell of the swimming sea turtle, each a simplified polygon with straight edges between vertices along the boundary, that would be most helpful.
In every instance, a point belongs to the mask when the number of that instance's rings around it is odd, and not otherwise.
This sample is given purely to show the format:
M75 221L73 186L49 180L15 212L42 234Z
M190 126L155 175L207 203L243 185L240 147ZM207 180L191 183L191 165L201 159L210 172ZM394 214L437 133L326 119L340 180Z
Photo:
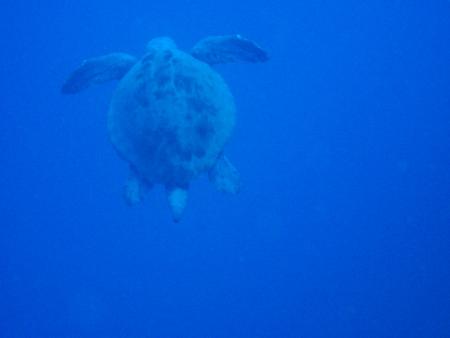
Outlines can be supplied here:
M146 182L187 188L217 161L234 114L227 85L209 65L159 46L120 81L108 124L115 148Z

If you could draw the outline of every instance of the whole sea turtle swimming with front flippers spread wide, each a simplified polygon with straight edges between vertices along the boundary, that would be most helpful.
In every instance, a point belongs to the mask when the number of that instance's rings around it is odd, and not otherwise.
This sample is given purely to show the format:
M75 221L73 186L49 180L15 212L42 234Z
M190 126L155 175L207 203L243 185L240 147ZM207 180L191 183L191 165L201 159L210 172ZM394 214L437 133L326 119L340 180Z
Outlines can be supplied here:
M120 80L108 114L110 139L130 166L125 198L141 201L162 184L179 221L192 179L207 173L226 192L239 189L239 173L223 155L234 127L233 96L211 67L226 62L264 62L267 54L240 35L200 40L187 53L167 37L151 40L141 59L112 53L85 60L62 93Z

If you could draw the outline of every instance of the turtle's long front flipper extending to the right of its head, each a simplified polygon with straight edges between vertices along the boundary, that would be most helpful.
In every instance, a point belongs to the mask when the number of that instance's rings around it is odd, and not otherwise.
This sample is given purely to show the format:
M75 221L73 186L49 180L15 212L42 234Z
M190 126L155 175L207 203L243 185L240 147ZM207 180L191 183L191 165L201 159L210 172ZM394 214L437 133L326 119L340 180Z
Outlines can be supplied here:
M267 53L255 42L240 35L211 36L200 40L191 54L210 65L228 62L265 62Z

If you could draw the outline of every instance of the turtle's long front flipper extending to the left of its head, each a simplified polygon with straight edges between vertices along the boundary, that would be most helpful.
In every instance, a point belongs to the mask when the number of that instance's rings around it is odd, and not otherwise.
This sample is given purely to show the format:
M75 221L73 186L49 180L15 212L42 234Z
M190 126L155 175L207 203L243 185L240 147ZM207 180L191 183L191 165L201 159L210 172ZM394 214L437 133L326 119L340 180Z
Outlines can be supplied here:
M120 80L137 62L134 56L112 53L84 60L62 86L63 94L76 94L91 84Z

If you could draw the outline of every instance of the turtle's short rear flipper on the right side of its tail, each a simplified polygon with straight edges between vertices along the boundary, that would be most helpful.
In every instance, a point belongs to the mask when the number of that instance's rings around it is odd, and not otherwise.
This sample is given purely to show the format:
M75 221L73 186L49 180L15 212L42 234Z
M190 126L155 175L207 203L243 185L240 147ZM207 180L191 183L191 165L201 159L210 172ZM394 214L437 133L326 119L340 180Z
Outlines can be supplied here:
M209 180L217 190L227 193L237 193L240 188L240 175L237 169L225 156L220 156L209 171Z

